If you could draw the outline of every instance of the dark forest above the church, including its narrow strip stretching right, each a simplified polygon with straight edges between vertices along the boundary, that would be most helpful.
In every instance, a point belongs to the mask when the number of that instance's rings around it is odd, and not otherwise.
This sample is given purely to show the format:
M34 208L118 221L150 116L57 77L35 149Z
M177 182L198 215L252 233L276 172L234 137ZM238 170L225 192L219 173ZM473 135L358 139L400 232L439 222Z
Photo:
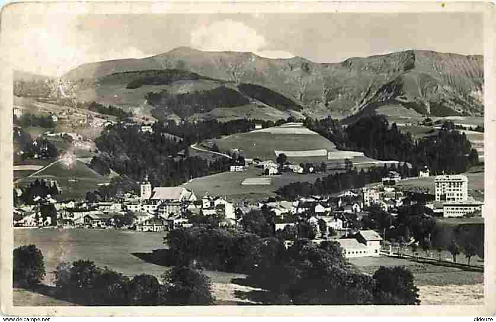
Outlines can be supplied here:
M152 126L153 133L142 132L137 125L110 125L95 139L100 154L91 160L90 167L102 175L109 174L113 169L133 180L142 180L148 175L155 186L176 186L191 178L227 171L230 165L239 161L223 157L212 161L191 157L190 144L222 135L248 132L258 123L270 127L286 121L237 119L224 123L205 120L179 124L173 120L158 121ZM184 151L184 157L178 157L181 151Z

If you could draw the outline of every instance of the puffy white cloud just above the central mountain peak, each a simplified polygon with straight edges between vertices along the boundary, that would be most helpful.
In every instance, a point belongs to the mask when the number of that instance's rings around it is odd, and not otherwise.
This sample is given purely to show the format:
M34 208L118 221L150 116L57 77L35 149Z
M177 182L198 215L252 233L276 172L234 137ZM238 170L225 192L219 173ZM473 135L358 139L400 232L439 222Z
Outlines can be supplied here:
M294 56L283 51L265 50L269 44L264 36L246 24L231 19L217 21L193 30L191 45L196 49L210 52L252 52L267 58Z

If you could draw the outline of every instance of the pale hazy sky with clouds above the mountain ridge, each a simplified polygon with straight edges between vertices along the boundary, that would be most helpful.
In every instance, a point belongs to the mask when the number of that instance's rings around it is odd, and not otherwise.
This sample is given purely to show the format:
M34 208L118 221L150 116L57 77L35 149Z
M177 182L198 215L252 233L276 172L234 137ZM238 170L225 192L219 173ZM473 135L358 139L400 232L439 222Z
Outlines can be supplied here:
M408 49L483 54L481 13L20 14L10 26L14 69L61 76L80 64L187 46L315 62Z

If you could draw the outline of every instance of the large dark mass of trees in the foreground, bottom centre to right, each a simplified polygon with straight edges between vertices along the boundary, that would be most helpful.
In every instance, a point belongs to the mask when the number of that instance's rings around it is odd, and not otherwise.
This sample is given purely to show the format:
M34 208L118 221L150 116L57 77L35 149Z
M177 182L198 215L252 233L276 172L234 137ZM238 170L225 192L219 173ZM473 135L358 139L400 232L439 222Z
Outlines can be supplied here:
M264 304L339 305L420 303L407 268L361 273L336 241L315 245L298 239L262 238L240 230L180 228L169 234L170 258L205 268L247 273L247 282L268 290Z

